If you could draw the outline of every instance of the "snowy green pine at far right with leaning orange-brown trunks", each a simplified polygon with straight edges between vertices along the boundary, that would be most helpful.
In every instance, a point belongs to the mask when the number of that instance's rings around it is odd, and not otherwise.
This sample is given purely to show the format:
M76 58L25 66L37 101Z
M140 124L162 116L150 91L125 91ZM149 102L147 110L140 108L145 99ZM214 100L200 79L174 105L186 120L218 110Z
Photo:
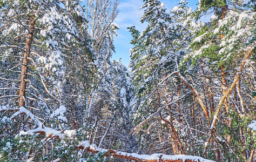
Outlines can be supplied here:
M212 14L210 22L190 28L194 39L183 61L185 66L191 63L186 72L198 84L198 91L203 92L211 117L211 137L202 145L204 155L214 154L214 159L220 161L248 160L253 147L248 146L247 151L242 148L252 140L246 138L250 136L247 125L255 116L253 99L246 95L254 91L255 63L250 57L255 46L255 12L244 1L200 1L194 14L200 18L207 12ZM239 151L225 151L232 147Z

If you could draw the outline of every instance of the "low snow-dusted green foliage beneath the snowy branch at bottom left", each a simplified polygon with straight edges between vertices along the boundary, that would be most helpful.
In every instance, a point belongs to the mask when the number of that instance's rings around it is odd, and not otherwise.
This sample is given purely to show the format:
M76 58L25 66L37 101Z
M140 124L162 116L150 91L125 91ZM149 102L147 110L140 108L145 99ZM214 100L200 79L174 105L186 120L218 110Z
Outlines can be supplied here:
M81 129L82 130L82 129ZM77 132L73 137L63 139L44 140L45 136L33 134L16 136L14 138L2 138L0 140L0 161L108 161L103 153L81 154L77 148L82 132Z

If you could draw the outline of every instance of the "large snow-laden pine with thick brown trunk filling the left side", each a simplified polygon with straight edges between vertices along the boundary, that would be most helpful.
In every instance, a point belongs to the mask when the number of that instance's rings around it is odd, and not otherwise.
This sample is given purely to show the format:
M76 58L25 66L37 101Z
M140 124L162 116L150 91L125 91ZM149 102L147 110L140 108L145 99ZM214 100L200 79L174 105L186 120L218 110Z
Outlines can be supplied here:
M68 98L64 85L71 65L68 60L92 57L80 1L0 4L0 145L5 148L0 158L72 158L67 154L77 154L78 141L69 141L67 147L67 140L51 143L48 139L71 136L66 124L72 121L65 117L63 106Z

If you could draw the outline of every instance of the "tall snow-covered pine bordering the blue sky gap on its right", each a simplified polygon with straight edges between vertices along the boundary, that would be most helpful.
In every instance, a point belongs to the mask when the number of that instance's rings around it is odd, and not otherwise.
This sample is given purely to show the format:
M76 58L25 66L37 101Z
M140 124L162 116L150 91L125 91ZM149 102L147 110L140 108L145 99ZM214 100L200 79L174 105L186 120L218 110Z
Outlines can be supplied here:
M139 122L136 131L140 132L140 143L146 152L181 154L185 153L184 145L190 143L186 138L189 131L178 129L187 125L184 111L193 98L187 87L190 84L179 70L180 59L190 42L190 32L183 26L191 12L186 3L181 1L167 14L160 1L145 1L142 22L149 25L142 33L134 26L129 28L134 45L130 68L138 104L134 119Z

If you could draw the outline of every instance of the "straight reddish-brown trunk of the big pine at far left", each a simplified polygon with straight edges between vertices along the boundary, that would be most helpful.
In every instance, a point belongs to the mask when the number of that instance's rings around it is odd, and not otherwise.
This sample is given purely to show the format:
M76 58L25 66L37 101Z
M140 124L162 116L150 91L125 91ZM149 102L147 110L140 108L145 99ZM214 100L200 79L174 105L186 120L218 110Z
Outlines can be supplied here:
M22 62L22 73L21 73L21 86L19 89L19 106L25 106L25 97L26 97L26 79L28 77L27 72L28 72L28 64L29 64L29 55L30 55L30 49L31 49L31 44L32 44L32 38L33 38L33 32L35 30L35 20L30 17L30 26L29 26L29 33L28 33L28 38L26 38L26 45L25 45L25 50L26 52L24 53L24 58Z

